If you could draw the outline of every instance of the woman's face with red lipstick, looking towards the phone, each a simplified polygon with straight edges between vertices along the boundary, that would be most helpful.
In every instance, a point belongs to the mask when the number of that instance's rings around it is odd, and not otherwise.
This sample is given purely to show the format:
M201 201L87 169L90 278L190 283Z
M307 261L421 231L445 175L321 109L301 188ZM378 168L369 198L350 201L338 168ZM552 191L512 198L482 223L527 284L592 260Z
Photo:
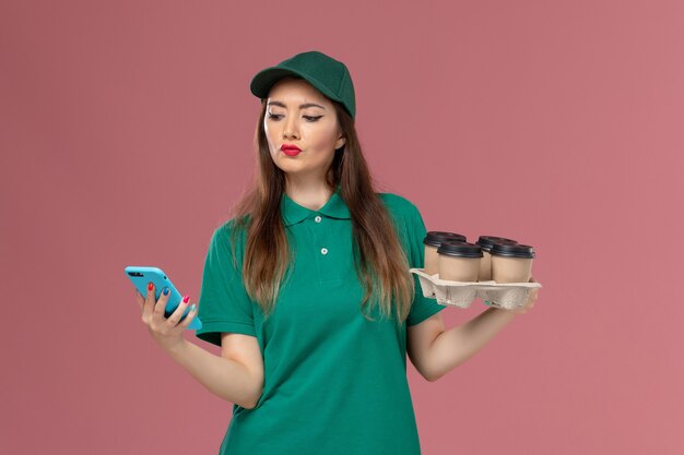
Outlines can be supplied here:
M332 103L300 79L285 77L271 87L263 128L273 163L291 177L325 180L335 148L345 142ZM302 152L287 154L283 145Z

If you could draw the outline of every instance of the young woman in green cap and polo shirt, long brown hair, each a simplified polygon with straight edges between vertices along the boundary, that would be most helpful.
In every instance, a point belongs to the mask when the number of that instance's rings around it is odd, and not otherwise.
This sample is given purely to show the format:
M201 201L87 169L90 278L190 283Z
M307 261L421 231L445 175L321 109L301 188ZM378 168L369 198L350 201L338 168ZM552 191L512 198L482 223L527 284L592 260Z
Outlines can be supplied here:
M139 296L156 343L213 394L234 404L221 454L420 454L406 354L428 381L480 350L524 308L487 309L445 330L417 277L422 216L374 191L354 128L346 67L298 53L259 72L262 109L253 185L213 234L197 336L186 298Z

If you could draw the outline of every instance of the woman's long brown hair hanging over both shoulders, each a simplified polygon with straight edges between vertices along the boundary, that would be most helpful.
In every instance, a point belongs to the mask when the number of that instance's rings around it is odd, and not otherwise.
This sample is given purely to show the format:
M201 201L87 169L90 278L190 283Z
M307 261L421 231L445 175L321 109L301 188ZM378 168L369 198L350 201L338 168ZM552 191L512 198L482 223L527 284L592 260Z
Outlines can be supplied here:
M375 193L373 178L361 149L354 119L341 104L330 99L338 115L345 144L335 151L326 175L331 191L340 185L340 195L352 219L354 264L365 294L361 310L370 310L374 302L380 313L397 315L401 324L413 300L414 280L409 272L397 231L382 201ZM273 310L283 277L288 271L292 251L281 217L281 199L285 191L285 173L273 163L269 152L263 119L267 100L255 134L257 169L253 182L234 207L232 249L234 266L235 238L247 228L243 282L248 296L256 300L264 315ZM373 320L364 314L366 319Z

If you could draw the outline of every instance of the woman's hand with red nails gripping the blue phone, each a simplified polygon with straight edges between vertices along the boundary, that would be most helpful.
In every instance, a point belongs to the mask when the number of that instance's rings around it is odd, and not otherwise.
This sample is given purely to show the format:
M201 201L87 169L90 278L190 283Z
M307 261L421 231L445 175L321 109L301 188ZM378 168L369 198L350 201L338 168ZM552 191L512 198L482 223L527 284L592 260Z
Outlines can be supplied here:
M170 292L168 291L168 288L165 288L156 302L154 301L154 285L150 283L148 284L146 297L143 297L140 292L135 291L135 301L142 311L142 322L148 326L150 335L152 335L152 338L154 338L162 349L168 351L185 343L182 333L194 319L197 310L194 308L196 306L192 304L192 308L186 315L186 319L179 323L180 318L182 316L182 313L185 313L190 301L190 297L186 296L168 319L164 318L164 309L166 308L166 302L168 301Z

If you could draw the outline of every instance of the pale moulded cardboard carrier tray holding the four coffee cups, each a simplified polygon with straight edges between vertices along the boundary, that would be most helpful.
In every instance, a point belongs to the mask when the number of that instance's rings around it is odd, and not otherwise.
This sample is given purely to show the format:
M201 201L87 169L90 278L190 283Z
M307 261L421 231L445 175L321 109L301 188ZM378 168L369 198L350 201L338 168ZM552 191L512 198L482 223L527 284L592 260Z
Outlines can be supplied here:
M439 279L439 274L428 275L423 268L410 268L409 272L418 276L423 296L458 308L469 308L480 298L488 301L490 307L512 310L522 307L533 289L542 287L540 283L450 282Z

